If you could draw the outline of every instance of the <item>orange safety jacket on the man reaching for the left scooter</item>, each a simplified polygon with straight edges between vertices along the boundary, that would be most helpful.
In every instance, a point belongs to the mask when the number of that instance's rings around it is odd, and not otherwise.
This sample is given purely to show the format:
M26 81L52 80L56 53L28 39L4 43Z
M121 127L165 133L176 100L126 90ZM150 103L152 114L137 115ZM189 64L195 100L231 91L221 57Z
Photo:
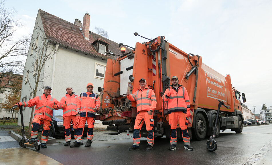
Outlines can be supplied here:
M60 103L58 102L58 100L56 98L51 97L51 94L48 94L47 97L45 97L45 94L42 94L42 96L36 96L33 99L28 100L27 102L19 102L19 105L25 107L31 107L36 105L34 111L34 118L40 117L42 119L52 121L51 120L53 115L52 105L54 105L54 102L56 106L60 107Z

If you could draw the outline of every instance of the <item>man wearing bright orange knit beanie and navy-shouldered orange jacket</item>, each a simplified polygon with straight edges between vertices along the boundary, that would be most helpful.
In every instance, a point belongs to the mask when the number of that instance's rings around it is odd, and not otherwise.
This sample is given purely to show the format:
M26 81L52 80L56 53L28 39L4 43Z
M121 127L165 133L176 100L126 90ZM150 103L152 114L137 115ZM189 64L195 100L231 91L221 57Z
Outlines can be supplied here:
M93 93L92 90L94 85L92 83L87 84L87 92L80 94L80 100L77 102L77 113L80 114L78 128L76 130L76 143L70 145L70 147L79 147L81 138L83 135L83 130L85 122L87 120L88 124L88 134L87 143L85 147L90 147L92 143L93 133L94 133L94 120L95 113L100 106L100 100L97 94Z

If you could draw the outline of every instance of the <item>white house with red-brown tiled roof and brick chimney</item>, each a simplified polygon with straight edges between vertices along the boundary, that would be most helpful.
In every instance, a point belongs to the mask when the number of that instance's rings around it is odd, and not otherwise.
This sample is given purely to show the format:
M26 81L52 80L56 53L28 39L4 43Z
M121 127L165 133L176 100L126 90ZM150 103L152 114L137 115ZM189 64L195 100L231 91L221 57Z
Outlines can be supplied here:
M42 41L38 33L46 32L54 55L52 59L46 61L42 71L42 76L46 79L39 85L51 86L52 97L57 100L66 94L66 86L72 86L73 92L79 95L86 92L87 83L93 83L93 92L99 94L98 87L103 87L107 59L116 59L117 57L112 54L120 55L121 51L118 43L89 31L89 27L88 13L84 15L81 24L78 19L70 23L39 9L23 71L23 75L29 78L29 83L33 85L33 77L37 76L30 73L33 69L32 63L35 63L31 47L36 41L38 44ZM106 54L106 51L109 54ZM38 91L36 96L42 93L43 89ZM32 90L24 78L21 101L28 101L32 96ZM30 113L31 108L23 110L25 124L29 124ZM19 120L18 124L20 122Z

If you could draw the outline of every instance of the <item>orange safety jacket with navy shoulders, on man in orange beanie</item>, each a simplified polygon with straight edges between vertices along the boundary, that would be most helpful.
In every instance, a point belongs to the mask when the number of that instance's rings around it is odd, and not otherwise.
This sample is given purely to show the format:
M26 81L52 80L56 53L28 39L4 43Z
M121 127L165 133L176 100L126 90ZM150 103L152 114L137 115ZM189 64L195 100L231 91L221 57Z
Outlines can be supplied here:
M77 100L77 114L80 112L81 117L95 117L95 106L100 107L99 96L93 92L85 92L80 94Z

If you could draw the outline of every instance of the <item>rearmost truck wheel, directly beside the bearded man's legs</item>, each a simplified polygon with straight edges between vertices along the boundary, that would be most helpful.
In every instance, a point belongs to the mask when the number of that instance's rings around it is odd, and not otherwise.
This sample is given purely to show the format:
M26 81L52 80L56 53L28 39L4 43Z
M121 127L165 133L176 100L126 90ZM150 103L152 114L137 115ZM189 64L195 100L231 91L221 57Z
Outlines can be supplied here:
M207 133L206 119L204 118L202 113L197 113L194 122L196 126L194 128L195 138L197 140L203 140L206 137Z

